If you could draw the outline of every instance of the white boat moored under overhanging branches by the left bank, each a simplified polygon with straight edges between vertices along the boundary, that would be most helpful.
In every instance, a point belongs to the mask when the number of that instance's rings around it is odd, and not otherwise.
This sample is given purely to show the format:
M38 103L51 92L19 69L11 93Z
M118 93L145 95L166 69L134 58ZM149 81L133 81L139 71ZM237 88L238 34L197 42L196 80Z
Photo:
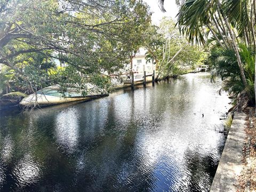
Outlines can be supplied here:
M42 90L36 92L36 94L30 94L23 98L20 105L23 106L47 106L47 105L57 105L60 103L74 102L74 101L85 101L92 98L99 98L108 95L103 90L98 89L97 86L91 84L86 85L86 94L82 91L77 91L74 87L67 88L66 92L60 91L59 85L52 85L45 87Z

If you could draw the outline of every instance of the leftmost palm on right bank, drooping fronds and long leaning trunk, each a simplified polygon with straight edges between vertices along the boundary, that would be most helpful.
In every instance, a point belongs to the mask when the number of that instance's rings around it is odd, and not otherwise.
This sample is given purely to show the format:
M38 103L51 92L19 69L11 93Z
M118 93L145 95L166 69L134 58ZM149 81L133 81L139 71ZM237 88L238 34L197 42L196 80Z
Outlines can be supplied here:
M223 1L225 2L225 1ZM226 17L225 12L221 9L221 4L218 0L189 0L183 3L180 6L180 11L178 13L178 26L180 31L183 34L186 34L189 37L189 41L191 43L205 43L203 27L208 27L214 36L214 38L218 41L218 44L224 48L224 46L228 47L227 39L223 36L223 34L228 32L228 37L231 39L231 45L236 53L237 64L239 66L239 70L242 76L242 81L244 86L246 86L246 78L244 75L244 69L241 61L241 57L238 52L238 46L236 42L236 37L234 31L231 29L231 24L229 18ZM220 10L218 12L218 10ZM221 24L220 18L224 18L225 23ZM212 26L212 23L215 26ZM220 23L220 25L219 25ZM222 26L222 27L220 27ZM223 30L222 30L223 29ZM219 32L219 35L222 38L221 40L216 35ZM223 45L225 44L225 45Z

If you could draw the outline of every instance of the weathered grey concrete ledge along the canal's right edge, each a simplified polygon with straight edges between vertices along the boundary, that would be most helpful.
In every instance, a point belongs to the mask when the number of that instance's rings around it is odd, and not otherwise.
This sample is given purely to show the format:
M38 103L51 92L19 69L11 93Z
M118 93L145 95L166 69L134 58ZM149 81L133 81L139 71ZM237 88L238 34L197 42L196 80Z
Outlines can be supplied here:
M245 144L245 113L235 113L227 141L223 149L211 192L237 191L238 176L242 171L243 146Z

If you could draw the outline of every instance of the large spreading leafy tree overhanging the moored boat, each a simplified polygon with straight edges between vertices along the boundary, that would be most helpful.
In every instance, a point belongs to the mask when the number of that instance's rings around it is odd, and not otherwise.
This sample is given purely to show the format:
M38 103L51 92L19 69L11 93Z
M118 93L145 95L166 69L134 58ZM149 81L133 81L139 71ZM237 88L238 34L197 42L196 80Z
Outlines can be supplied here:
M1 0L0 63L32 85L19 63L23 55L44 54L68 63L69 81L60 78L62 85L83 87L81 82L90 81L103 86L108 74L126 63L130 47L124 39L142 28L135 23L143 26L145 18L150 15L141 1Z

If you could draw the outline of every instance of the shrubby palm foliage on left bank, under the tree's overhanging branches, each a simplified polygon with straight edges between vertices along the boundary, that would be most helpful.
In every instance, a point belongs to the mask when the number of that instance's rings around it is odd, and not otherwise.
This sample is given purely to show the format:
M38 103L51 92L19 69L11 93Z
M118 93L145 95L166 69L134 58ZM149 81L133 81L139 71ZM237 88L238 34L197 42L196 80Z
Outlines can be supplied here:
M17 62L15 67L18 70L3 66L0 71L2 92L23 91L32 93L33 90L42 89L53 83L53 79L51 79L48 71L55 69L56 66L54 61L45 54L35 52L26 53L19 55L15 58L15 61ZM22 74L20 74L19 71L22 71ZM9 87L10 90L4 90L6 86Z

